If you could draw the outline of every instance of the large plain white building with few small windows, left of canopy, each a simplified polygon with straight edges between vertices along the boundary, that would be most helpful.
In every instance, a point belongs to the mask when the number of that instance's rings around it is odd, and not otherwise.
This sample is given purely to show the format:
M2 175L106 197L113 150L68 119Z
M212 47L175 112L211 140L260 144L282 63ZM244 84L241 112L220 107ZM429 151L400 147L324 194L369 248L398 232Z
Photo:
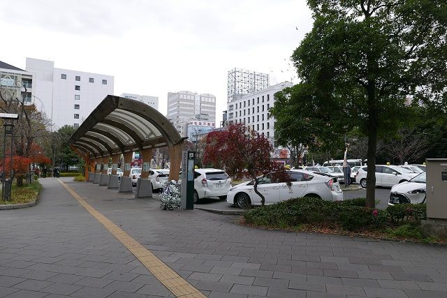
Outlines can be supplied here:
M114 77L79 70L54 68L54 61L27 58L34 76L38 110L45 110L52 130L68 124L78 128L101 101L113 94Z

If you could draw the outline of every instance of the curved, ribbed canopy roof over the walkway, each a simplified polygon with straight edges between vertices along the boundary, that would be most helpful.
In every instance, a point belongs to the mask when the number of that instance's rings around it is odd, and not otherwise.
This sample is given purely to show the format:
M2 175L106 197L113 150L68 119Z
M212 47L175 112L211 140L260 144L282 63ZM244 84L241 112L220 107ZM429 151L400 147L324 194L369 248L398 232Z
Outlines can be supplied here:
M172 147L183 138L159 111L129 98L108 95L71 136L91 158L126 151Z

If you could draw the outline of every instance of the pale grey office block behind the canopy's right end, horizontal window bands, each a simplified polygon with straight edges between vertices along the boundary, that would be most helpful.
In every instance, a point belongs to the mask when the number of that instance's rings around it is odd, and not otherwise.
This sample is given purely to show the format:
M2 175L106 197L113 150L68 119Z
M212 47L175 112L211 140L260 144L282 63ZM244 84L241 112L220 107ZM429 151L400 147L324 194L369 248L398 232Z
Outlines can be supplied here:
M191 120L206 121L215 126L216 96L196 94L191 91L168 93L168 114L166 116L182 137L187 136Z

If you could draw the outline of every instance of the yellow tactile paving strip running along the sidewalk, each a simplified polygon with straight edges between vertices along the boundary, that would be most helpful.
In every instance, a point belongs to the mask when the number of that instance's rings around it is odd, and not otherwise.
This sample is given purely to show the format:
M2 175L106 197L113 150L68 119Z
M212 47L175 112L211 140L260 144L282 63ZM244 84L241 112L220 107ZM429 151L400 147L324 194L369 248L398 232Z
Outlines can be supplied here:
M147 248L142 246L140 243L135 241L129 234L120 229L115 223L112 223L110 219L103 216L103 214L99 213L94 207L84 199L78 195L73 189L71 189L68 185L66 185L61 179L58 179L59 182L66 188L66 190L73 195L73 197L78 200L78 202L84 207L89 213L96 218L97 221L102 223L104 227L115 236L119 242L121 242L124 246L135 257L140 260L142 265L154 275L163 285L173 292L176 297L205 297L199 290L194 288L191 284L185 281L181 276L179 276L173 269L170 269L168 265L161 262L159 258L157 258L153 253L151 253Z

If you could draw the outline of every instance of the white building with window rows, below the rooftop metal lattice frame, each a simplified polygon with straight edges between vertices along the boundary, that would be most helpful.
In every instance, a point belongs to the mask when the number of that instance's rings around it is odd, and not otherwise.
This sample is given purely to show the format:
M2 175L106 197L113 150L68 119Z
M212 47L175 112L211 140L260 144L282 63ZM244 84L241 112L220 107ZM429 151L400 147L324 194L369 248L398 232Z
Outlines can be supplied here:
M228 102L226 114L228 124L243 123L273 143L274 118L270 117L268 110L274 105L274 94L292 86L291 82L282 82Z

